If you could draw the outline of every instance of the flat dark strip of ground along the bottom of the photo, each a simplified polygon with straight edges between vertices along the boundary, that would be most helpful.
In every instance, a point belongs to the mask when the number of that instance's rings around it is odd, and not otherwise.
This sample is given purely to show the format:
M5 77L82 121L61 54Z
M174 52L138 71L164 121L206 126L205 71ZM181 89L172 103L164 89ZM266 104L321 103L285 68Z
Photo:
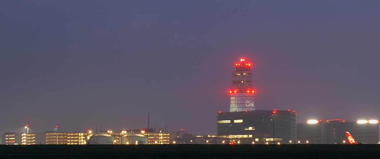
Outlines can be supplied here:
M0 145L0 158L379 159L380 145Z

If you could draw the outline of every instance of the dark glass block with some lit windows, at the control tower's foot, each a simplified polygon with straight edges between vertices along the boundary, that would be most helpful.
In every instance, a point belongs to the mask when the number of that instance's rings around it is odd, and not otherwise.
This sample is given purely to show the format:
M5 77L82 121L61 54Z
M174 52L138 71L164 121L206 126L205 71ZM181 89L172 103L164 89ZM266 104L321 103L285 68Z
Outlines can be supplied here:
M220 112L217 115L218 143L233 140L242 144L273 142L272 110ZM296 140L296 113L277 110L274 116L275 143Z

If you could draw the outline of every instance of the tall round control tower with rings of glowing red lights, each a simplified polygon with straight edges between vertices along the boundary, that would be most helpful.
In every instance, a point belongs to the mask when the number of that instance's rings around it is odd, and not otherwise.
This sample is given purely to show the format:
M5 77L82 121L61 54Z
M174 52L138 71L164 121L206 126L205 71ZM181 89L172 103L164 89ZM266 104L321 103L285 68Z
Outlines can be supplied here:
M252 85L252 63L241 58L235 63L236 71L232 72L230 88L230 112L253 111L255 108L255 91Z

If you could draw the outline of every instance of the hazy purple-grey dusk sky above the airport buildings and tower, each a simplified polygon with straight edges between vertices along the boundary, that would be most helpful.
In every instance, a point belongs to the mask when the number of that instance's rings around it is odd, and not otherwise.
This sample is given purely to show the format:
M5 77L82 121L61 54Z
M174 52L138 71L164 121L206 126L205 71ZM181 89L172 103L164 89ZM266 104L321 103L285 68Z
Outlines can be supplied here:
M216 134L234 63L257 110L380 119L380 1L0 1L0 134Z

